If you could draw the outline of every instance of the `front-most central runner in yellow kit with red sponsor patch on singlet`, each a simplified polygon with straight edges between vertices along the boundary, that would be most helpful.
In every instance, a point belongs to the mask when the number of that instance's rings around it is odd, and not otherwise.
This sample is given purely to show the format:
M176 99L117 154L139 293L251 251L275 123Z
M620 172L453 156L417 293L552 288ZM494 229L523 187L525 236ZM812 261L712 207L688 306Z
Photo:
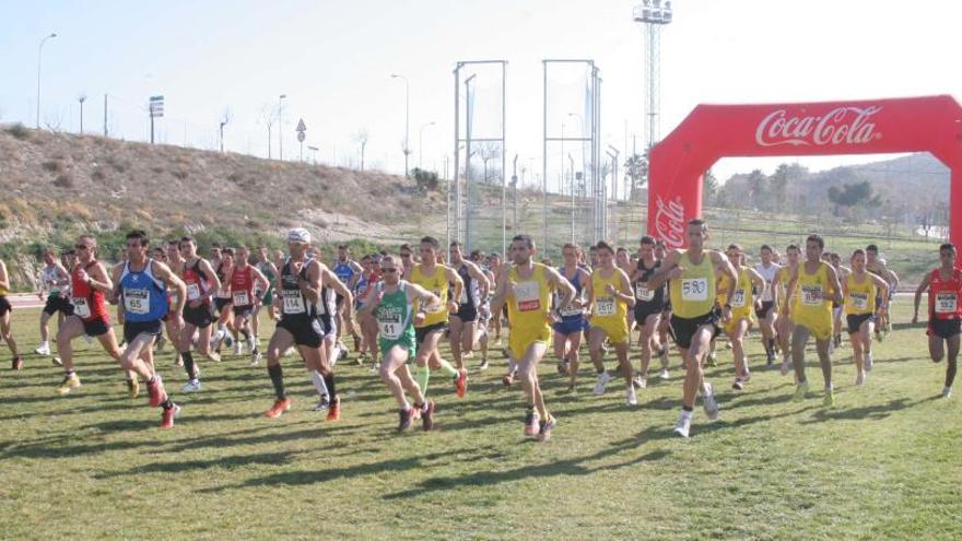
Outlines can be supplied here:
M511 332L508 348L518 364L518 377L525 390L528 411L525 416L525 435L537 436L544 442L551 437L556 420L544 405L544 396L538 384L538 363L548 351L551 341L551 294L561 292L555 310L567 308L575 297L575 289L556 270L536 263L535 242L529 235L516 235L512 239L513 266L503 264L495 280L497 287L491 299L491 313L500 314L507 304Z

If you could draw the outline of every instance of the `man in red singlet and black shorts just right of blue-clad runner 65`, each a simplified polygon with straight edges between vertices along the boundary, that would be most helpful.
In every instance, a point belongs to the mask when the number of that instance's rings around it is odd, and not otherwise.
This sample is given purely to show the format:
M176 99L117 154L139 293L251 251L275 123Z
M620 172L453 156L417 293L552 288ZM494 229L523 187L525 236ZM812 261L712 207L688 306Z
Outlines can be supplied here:
M211 296L221 289L221 279L214 271L213 266L207 259L197 255L197 242L192 237L180 238L180 254L184 263L180 266L178 275L187 284L187 302L184 305L184 328L180 332L180 341L177 351L184 360L184 369L187 372L187 383L180 388L181 392L197 392L200 390L197 364L190 352L193 333L197 332L197 351L201 355L215 363L221 362L221 356L211 348L211 324L213 324L213 310Z

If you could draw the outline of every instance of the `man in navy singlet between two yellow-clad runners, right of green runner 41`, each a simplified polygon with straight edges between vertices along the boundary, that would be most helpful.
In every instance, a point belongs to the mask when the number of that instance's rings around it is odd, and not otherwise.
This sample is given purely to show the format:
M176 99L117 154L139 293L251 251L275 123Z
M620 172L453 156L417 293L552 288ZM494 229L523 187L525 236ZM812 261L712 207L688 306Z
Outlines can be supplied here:
M488 298L491 284L488 277L473 261L465 259L461 251L461 243L455 240L450 244L451 267L461 278L464 285L461 294L457 298L458 309L449 317L451 356L458 371L467 371L465 367L465 354L474 349L474 334L478 331L478 310L481 301Z

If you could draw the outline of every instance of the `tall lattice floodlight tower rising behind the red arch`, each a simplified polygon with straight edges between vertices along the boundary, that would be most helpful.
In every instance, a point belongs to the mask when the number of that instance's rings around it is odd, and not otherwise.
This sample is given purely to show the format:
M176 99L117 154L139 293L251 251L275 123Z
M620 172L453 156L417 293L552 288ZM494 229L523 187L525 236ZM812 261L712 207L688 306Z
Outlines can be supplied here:
M645 143L650 149L658 142L658 108L660 106L658 77L661 63L661 26L671 23L671 2L644 0L632 12L636 23L645 30L647 55L645 56Z

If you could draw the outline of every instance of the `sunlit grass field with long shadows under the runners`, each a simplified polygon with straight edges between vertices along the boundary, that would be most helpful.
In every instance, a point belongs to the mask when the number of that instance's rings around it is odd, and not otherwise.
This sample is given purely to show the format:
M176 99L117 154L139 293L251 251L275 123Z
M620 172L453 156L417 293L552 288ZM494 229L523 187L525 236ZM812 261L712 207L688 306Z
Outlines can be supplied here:
M37 314L15 313L24 351L36 346ZM326 422L291 357L294 408L280 419L261 416L272 401L265 367L228 357L202 364L202 393L175 393L183 415L162 432L160 410L128 400L113 362L77 343L83 387L63 398L48 360L27 355L14 373L0 350L0 538L962 538L962 404L937 398L945 364L932 365L922 329L904 324L876 344L863 388L850 349L836 352L834 409L820 390L791 402L790 376L764 369L754 339L754 378L728 390L730 352L719 346L708 374L720 419L699 409L687 440L671 434L677 356L672 378L635 409L617 381L595 396L587 369L576 396L562 393L545 363L560 424L537 444L521 434L520 391L500 381L500 353L472 373L465 399L433 378L433 433L397 435L392 400L353 361L338 366L342 421ZM179 388L169 350L157 365ZM814 363L809 375L821 389Z

